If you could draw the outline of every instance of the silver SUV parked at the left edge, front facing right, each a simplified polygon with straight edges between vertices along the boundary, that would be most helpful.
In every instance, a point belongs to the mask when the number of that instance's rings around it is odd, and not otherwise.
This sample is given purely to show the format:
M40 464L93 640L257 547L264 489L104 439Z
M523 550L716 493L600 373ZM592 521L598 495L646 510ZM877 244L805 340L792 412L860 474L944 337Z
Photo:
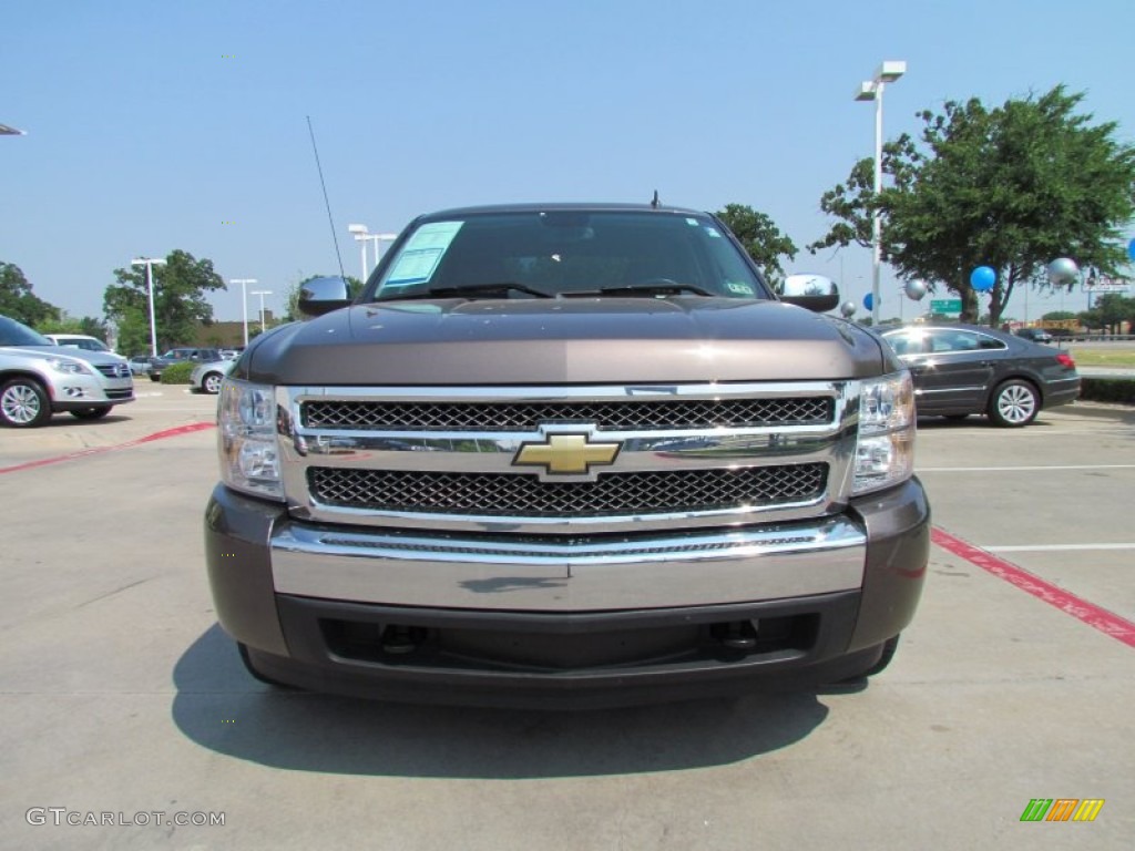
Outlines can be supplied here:
M64 411L98 420L115 405L133 401L126 359L57 346L22 322L0 317L0 426L43 426Z

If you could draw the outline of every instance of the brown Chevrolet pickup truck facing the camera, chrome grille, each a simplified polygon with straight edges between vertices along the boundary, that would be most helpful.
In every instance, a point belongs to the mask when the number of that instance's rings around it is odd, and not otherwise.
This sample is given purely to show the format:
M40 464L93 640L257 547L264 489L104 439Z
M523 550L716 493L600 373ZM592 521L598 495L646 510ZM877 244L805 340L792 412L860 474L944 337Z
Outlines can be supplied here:
M715 217L447 210L219 399L218 618L266 682L581 708L881 671L922 592L910 377Z

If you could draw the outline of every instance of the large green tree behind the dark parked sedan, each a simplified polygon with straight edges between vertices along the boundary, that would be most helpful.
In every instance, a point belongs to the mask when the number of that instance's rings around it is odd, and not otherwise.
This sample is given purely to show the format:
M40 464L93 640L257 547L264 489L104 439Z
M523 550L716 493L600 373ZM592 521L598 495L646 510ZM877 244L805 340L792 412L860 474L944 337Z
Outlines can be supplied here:
M873 160L856 163L821 199L839 221L808 248L868 244L877 208L884 258L903 279L956 292L964 318L981 312L970 272L998 272L994 326L1015 287L1050 286L1058 256L1116 275L1126 262L1120 228L1135 213L1135 146L1115 138L1115 123L1077 113L1083 96L1056 86L995 109L972 99L920 112L918 143L903 135L884 146L890 185L876 197Z

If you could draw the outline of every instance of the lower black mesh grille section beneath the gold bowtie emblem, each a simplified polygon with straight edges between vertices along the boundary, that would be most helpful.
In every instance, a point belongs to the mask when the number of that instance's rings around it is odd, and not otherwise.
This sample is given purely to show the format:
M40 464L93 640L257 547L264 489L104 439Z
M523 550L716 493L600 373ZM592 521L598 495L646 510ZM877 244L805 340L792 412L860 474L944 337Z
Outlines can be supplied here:
M518 517L649 515L800 503L819 497L826 478L824 463L613 473L594 482L541 482L535 475L508 473L308 470L310 492L326 505Z

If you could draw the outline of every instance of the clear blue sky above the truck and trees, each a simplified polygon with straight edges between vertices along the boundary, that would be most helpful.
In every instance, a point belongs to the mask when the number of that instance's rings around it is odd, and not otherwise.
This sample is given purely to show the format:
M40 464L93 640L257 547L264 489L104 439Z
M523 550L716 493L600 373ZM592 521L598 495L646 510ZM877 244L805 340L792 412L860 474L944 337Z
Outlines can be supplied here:
M289 285L338 269L311 116L348 275L350 222L657 188L767 213L801 248L790 271L861 303L867 248L804 246L830 225L819 196L872 153L874 107L852 93L882 60L908 64L886 137L947 100L1065 83L1132 142L1133 50L1130 0L8 0L0 123L27 135L0 137L0 261L101 315L116 267L183 248L257 278L279 309ZM884 317L898 287L884 269ZM219 319L239 319L239 289L213 297ZM1029 318L1061 306L1029 300Z

